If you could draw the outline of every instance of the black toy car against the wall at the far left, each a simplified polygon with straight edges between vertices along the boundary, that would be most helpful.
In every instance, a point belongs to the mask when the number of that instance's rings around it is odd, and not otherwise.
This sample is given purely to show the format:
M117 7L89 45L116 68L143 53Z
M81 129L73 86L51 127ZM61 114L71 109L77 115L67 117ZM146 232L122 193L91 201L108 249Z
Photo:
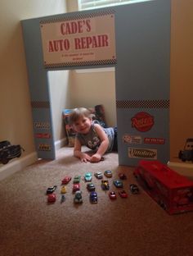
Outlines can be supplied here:
M7 141L2 141L0 145L0 162L6 164L12 158L20 158L21 155L20 145L11 145ZM22 149L24 151L24 149Z

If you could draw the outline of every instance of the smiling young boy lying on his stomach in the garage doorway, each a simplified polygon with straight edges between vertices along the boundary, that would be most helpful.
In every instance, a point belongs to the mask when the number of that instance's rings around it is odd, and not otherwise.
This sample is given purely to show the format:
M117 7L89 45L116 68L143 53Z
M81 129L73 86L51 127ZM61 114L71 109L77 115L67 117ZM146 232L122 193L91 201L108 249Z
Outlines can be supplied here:
M69 121L77 133L74 140L74 156L80 158L81 162L99 162L106 152L117 152L117 129L103 128L92 122L92 113L87 108L74 108ZM81 152L82 145L86 145L95 153L90 156Z

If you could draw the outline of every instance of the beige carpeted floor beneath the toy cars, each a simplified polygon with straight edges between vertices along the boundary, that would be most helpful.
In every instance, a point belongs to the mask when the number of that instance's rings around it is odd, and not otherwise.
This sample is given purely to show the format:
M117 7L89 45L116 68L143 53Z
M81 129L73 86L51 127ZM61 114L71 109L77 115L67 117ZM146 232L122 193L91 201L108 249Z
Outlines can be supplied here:
M1 256L191 256L193 255L193 213L170 216L141 190L131 167L118 166L118 155L105 155L100 163L81 163L72 149L58 150L54 161L38 161L0 181ZM114 179L122 171L128 176L123 188L128 199L111 201L93 176L98 203L89 202L83 175L86 171L113 171L110 190L118 191ZM61 180L81 175L83 204L74 205L72 181L66 185L61 203ZM48 186L57 185L56 203L47 203Z

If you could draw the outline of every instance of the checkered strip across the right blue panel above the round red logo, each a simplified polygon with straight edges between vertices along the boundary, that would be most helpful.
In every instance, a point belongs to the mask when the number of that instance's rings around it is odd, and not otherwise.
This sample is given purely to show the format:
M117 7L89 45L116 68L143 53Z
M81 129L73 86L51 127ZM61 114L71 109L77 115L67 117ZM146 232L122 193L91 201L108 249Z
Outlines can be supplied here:
M117 108L169 108L169 100L117 100L116 106Z

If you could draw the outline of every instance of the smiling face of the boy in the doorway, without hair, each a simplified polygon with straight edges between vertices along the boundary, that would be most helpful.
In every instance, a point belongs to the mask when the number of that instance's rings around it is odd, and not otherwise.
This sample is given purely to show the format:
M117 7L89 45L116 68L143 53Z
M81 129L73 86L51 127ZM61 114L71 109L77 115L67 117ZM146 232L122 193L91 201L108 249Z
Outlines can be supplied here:
M73 129L80 134L88 134L92 125L92 119L88 117L79 117L73 124Z

